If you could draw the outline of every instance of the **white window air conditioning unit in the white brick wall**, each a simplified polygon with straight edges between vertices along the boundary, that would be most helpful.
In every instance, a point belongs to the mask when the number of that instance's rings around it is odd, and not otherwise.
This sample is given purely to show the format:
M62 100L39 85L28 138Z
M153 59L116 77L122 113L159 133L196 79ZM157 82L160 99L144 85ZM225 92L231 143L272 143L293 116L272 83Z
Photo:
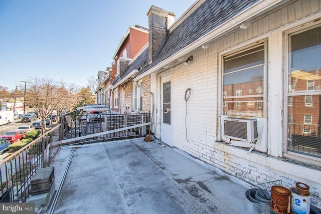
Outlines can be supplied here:
M253 143L257 140L255 119L222 118L223 136L231 140Z

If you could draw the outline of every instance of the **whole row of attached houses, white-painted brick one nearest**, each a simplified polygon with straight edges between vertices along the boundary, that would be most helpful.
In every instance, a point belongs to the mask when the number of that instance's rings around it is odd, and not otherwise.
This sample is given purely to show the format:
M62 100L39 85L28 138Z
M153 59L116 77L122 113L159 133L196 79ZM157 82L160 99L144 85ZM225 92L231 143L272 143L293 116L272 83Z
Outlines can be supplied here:
M151 6L148 43L130 57L125 36L114 55L110 106L151 111L156 140L248 183L303 182L321 208L320 11L197 0L174 22Z

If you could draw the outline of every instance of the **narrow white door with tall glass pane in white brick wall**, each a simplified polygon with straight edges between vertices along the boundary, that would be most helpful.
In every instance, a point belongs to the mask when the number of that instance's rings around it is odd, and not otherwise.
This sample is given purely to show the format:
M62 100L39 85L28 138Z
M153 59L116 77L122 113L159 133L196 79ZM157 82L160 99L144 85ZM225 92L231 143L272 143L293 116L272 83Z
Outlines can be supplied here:
M171 76L162 78L161 90L161 139L166 144L173 146Z

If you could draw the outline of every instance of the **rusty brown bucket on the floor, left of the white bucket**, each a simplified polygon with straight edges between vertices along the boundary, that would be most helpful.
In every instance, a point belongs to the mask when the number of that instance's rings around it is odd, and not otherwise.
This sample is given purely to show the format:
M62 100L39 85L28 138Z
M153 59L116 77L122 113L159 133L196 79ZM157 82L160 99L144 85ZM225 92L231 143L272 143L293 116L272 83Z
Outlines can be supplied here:
M271 209L275 212L290 212L291 191L283 186L271 187Z

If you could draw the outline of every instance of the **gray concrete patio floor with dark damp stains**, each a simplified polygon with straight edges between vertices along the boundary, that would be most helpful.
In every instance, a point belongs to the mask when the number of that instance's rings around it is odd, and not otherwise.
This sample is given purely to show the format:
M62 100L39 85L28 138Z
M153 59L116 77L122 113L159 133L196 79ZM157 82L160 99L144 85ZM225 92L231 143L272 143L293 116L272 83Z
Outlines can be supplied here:
M73 147L54 213L248 213L248 184L143 138L63 147L56 188Z

